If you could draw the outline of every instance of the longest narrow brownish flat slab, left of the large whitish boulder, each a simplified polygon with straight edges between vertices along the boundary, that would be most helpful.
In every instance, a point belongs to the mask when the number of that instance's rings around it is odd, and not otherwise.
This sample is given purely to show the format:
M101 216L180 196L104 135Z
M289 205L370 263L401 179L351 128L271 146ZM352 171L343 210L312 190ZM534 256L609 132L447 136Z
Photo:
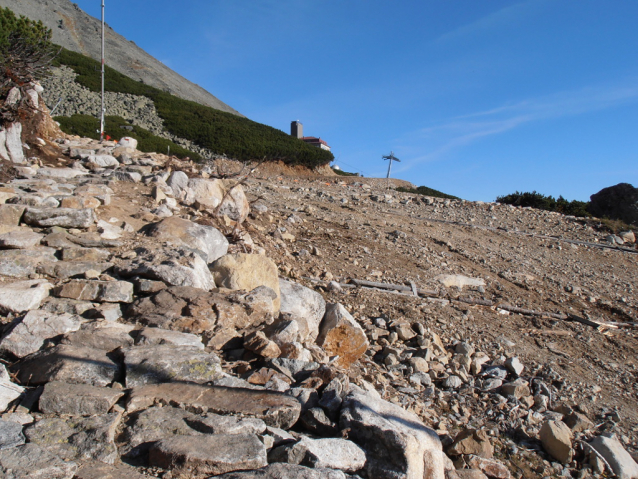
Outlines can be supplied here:
M129 413L155 403L216 414L253 417L268 426L289 429L299 419L301 404L275 391L202 386L199 384L153 384L134 388L127 404Z

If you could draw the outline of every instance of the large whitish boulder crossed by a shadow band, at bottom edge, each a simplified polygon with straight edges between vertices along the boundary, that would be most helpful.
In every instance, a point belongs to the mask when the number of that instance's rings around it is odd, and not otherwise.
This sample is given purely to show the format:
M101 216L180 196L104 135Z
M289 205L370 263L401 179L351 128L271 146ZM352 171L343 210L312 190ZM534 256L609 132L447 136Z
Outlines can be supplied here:
M343 401L340 426L366 451L369 477L444 479L447 456L435 431L419 417L353 386Z

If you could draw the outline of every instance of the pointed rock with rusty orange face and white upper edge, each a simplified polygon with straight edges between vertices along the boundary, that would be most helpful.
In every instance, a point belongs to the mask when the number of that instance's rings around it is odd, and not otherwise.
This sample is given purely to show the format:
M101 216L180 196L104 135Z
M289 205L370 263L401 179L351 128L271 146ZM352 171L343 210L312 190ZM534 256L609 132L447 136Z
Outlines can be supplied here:
M365 331L341 304L328 304L319 327L317 344L331 356L339 356L337 364L347 368L368 349Z

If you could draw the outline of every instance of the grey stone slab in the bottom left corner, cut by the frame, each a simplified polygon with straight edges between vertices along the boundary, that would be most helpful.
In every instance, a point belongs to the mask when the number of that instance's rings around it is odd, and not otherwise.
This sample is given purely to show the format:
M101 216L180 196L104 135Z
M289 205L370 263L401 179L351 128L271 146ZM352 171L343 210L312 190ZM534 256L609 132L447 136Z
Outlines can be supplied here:
M25 444L0 451L0 472L12 471L15 478L71 479L77 470L75 462L65 462L37 444Z

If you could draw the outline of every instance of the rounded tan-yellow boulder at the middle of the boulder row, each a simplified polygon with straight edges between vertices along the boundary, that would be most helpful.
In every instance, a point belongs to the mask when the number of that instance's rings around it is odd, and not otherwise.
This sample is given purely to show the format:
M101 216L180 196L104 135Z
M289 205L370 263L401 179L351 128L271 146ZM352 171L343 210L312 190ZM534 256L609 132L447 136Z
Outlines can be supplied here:
M277 265L259 254L227 254L211 265L217 286L227 289L252 291L259 286L272 289L277 298L273 300L276 311L281 307Z

